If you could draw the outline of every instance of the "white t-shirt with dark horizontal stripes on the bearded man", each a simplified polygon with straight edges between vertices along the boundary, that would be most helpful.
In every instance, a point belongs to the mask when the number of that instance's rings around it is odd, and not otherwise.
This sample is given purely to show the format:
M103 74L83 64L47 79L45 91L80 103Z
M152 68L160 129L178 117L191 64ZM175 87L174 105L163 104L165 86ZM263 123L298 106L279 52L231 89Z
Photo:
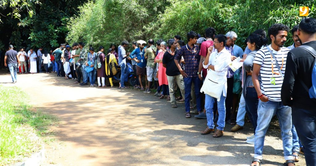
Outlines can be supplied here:
M281 72L284 77L286 57L288 55L288 52L290 51L289 48L282 47L279 51L275 51L271 48L271 45L269 45L268 47L271 49L274 56L276 57L280 68L282 68ZM282 61L283 61L283 66L282 66ZM272 59L272 62L273 62L273 72L279 73L279 70L276 67L276 62L274 58ZM261 93L266 95L271 101L281 101L281 87L282 87L283 79L280 74L272 75L271 54L269 50L267 49L267 47L260 49L256 53L256 57L253 60L253 63L261 65L261 68L260 68L260 76L262 79ZM275 78L275 84L273 82L271 83L272 77Z

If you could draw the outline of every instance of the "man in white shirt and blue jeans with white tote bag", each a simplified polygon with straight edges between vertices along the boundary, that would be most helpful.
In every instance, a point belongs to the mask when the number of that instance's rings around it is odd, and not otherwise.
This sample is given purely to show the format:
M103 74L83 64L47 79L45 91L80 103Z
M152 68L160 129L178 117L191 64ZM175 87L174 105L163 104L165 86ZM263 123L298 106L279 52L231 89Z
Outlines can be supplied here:
M223 34L218 34L214 39L215 52L212 52L213 47L208 48L207 56L203 62L203 67L208 69L207 76L204 81L201 91L205 93L205 109L207 117L207 128L201 132L202 135L214 133L213 107L217 101L218 121L217 130L213 137L218 138L223 135L225 127L225 98L227 94L227 70L231 63L231 54L225 49L227 37Z

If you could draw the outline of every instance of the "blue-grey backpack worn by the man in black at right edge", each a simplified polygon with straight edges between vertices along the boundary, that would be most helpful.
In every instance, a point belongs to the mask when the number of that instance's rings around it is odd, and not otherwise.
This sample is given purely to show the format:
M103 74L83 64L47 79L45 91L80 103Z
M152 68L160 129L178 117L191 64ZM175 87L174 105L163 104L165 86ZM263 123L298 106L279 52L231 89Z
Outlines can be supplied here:
M308 89L308 87L305 85L305 83L301 80L301 83L304 87L304 89L306 89L306 91L309 94L309 98L313 99L314 101L316 101L316 50L314 50L312 47L310 46L306 46L306 45L302 45L299 46L297 48L301 48L307 52L309 52L310 54L312 54L312 56L315 58L313 63L312 63L312 87L310 89Z

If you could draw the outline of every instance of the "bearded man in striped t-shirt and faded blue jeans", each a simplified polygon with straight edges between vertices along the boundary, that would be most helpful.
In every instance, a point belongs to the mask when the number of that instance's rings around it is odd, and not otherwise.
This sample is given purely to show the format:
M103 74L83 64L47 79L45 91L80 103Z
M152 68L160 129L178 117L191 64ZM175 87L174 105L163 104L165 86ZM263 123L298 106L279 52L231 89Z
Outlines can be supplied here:
M284 24L272 25L268 29L271 45L260 49L253 61L252 82L260 100L252 166L261 164L265 134L274 114L280 123L286 165L293 166L295 163L292 156L291 108L284 106L281 101L286 58L290 51L283 47L288 31L289 28ZM259 74L262 79L261 85L258 80Z

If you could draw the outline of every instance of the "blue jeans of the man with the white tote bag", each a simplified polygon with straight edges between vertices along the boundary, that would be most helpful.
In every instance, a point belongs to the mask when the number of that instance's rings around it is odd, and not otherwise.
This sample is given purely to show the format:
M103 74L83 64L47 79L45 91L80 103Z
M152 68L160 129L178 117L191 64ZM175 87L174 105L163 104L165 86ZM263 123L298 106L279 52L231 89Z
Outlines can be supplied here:
M213 108L214 103L217 102L217 109L218 109L218 120L217 120L217 130L224 130L225 127L225 115L226 115L226 108L225 108L225 99L226 97L221 95L220 101L217 101L215 97L205 94L205 110L206 110L206 117L207 117L207 126L210 129L214 129L214 114Z

